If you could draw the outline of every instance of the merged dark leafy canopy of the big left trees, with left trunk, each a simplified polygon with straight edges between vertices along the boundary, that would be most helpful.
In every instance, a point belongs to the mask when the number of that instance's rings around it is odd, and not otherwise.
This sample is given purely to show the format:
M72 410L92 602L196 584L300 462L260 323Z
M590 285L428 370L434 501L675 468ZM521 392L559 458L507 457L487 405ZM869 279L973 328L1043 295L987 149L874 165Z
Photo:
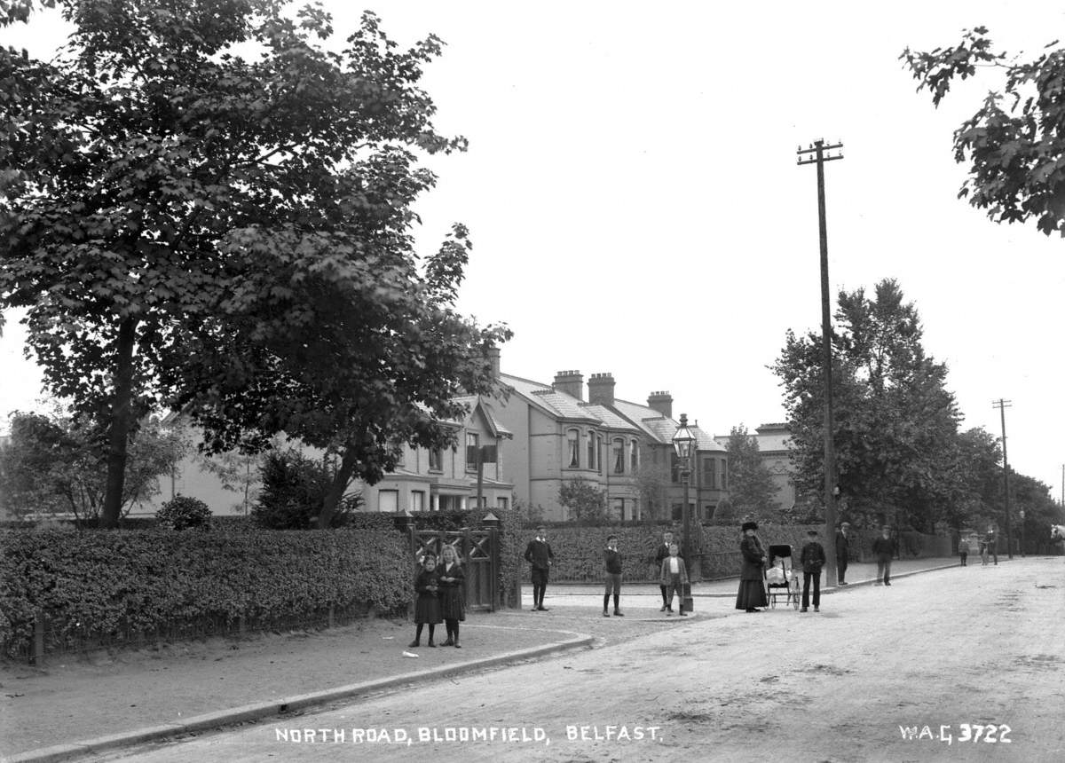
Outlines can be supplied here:
M417 86L440 40L398 50L365 14L326 50L329 16L279 0L56 4L54 61L0 51L0 304L29 309L46 385L108 432L103 524L161 400L216 449L294 427L370 478L383 444L445 439L425 420L457 415L456 376L490 387L507 333L452 308L461 228L414 255L416 154L464 148Z

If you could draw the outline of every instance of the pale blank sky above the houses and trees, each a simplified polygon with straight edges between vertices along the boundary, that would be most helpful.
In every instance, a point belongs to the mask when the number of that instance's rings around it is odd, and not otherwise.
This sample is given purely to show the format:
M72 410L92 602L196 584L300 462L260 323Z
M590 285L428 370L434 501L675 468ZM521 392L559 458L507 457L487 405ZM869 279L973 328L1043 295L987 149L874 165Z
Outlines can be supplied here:
M433 33L436 126L469 138L426 162L425 254L450 225L474 244L459 301L514 332L505 372L611 372L618 397L669 391L715 435L785 419L769 369L788 329L819 330L817 185L799 146L843 144L825 166L833 294L896 279L949 368L963 428L1001 436L1011 466L1062 497L1056 346L1065 242L1000 226L957 199L952 134L1000 86L994 71L939 109L904 48L985 26L1000 49L1061 37L1051 2L392 2L328 0L338 38L362 9L403 46ZM46 56L62 26L38 14L0 44ZM0 431L38 407L19 315L0 338Z

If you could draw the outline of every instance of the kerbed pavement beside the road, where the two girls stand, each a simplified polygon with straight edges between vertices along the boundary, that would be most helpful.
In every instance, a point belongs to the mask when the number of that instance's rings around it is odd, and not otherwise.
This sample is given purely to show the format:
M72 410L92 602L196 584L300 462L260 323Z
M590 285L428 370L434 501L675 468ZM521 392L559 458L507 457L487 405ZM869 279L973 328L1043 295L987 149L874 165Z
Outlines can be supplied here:
M1005 563L1000 558L1000 563ZM891 579L957 566L956 559L897 561ZM971 564L982 569L979 558ZM851 563L846 586L822 586L822 610L833 596L872 585L875 563ZM900 583L904 584L904 583ZM659 612L651 583L623 584L624 617L603 617L601 584L552 583L547 612L522 609L471 612L461 649L428 648L414 627L372 619L322 631L163 644L141 650L49 657L33 667L0 663L0 760L92 759L148 742L187 737L308 709L323 709L397 687L447 680L572 650L596 648L690 624L739 616L735 579L692 585L691 617ZM783 602L777 609L785 608ZM612 608L611 608L612 610ZM813 615L813 613L810 613ZM805 615L804 615L805 616ZM446 635L438 628L438 643Z

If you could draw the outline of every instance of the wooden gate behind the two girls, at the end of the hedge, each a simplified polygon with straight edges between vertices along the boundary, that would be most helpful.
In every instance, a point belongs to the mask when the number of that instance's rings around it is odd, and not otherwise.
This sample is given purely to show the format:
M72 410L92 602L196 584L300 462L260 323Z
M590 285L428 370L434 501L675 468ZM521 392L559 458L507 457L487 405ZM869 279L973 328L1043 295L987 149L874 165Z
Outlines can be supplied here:
M465 570L463 590L468 609L497 609L499 590L499 543L494 528L464 528L462 530L419 530L412 528L411 550L415 559L433 553L440 559L444 546L458 554Z

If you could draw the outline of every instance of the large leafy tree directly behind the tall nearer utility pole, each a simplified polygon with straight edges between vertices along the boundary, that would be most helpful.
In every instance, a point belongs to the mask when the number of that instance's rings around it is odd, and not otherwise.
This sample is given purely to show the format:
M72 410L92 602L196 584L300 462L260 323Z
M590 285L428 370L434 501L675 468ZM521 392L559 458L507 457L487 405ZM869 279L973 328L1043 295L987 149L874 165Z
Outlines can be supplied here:
M837 479L852 516L931 527L950 500L946 475L956 462L958 413L946 388L947 369L921 345L916 308L898 283L875 294L839 294L833 344ZM785 387L796 484L821 494L824 484L823 383L817 332L788 332L774 371Z

